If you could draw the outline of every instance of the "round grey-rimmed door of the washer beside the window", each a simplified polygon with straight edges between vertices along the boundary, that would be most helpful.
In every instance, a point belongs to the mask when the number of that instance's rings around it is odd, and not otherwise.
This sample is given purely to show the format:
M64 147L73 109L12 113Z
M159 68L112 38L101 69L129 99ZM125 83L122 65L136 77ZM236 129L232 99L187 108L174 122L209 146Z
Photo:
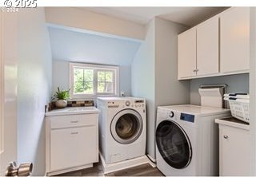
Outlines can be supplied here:
M114 140L120 144L131 144L142 134L142 116L133 109L118 112L110 126Z

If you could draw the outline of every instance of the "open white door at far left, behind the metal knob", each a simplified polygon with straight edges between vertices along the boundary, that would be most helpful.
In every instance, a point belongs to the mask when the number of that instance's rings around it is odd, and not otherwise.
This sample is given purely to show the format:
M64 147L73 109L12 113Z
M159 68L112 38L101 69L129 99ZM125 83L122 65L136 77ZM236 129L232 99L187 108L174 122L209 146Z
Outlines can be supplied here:
M6 167L17 159L17 60L18 60L18 33L17 14L0 12L2 15L0 47L2 97L0 112L2 148L0 152L0 176L5 175ZM1 118L0 117L0 118Z

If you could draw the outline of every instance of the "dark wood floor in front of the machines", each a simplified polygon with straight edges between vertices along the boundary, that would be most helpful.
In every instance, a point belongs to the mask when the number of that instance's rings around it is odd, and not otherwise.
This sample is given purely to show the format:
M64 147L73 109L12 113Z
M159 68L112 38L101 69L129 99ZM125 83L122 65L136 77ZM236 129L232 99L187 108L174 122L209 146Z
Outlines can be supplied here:
M62 176L104 176L102 163L94 163L94 167L86 168L80 171L73 171ZM58 176L61 176L58 175ZM157 167L151 167L149 163L140 165L138 167L127 168L122 171L115 171L105 176L164 176Z

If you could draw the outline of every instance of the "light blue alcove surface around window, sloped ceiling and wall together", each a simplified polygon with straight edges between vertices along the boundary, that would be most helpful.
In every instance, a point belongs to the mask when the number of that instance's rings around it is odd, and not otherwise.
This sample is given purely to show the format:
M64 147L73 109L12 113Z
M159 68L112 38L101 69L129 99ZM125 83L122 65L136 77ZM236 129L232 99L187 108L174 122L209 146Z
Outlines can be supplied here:
M131 94L130 65L141 44L123 38L102 37L88 33L49 28L53 61L53 92L69 88L68 61L118 65L119 90Z

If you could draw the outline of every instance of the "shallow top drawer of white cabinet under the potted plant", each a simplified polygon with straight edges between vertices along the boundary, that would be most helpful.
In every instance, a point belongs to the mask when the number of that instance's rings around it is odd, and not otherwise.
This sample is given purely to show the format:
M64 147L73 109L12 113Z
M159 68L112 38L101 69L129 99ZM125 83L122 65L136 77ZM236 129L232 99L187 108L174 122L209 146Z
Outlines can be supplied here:
M50 128L70 128L98 124L98 114L52 116Z

